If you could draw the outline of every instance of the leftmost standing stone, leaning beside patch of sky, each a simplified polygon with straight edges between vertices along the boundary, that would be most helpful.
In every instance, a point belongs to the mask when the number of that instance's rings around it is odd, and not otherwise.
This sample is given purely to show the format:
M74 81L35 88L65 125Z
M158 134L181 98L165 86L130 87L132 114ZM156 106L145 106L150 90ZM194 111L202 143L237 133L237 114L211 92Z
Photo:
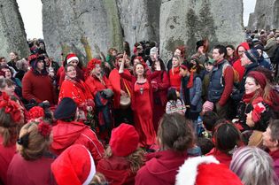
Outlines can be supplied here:
M9 59L9 53L18 52L19 58L29 55L27 35L16 0L0 0L0 57Z

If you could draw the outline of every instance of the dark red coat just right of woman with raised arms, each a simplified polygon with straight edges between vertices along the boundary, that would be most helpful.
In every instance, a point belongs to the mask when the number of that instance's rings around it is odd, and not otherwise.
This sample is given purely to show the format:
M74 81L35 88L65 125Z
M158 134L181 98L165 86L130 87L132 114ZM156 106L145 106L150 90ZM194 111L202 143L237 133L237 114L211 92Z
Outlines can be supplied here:
M161 71L159 75L151 81L154 97L159 96L162 106L167 104L167 89L169 79L166 71Z

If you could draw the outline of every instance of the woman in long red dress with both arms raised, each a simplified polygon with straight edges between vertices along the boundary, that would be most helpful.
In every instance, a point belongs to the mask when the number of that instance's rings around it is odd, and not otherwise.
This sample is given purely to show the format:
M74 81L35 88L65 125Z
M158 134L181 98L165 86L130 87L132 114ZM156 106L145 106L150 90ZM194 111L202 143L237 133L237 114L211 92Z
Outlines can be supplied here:
M140 144L143 147L149 148L155 143L155 130L153 127L153 91L151 80L159 75L160 65L156 62L157 72L145 76L143 64L137 64L135 67L135 76L124 73L124 61L127 56L124 54L124 59L120 65L120 76L132 82L132 110L134 111L135 127L140 135Z

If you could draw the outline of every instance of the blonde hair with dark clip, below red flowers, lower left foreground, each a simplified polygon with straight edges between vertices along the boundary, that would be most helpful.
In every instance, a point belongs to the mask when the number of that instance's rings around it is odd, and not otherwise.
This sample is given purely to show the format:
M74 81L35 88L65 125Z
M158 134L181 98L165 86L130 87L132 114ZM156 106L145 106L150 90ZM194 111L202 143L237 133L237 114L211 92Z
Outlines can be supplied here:
M38 131L38 122L29 122L20 129L19 140L26 139L27 144L17 143L19 154L26 160L35 160L43 157L43 154L49 150L52 142L52 135L44 137Z

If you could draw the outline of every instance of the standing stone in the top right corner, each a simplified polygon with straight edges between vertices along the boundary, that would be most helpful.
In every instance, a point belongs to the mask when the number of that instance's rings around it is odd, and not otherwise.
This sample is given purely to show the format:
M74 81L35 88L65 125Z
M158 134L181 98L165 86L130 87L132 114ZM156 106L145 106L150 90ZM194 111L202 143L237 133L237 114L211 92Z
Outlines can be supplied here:
M249 29L275 29L279 27L279 0L257 0L255 11L249 17Z

